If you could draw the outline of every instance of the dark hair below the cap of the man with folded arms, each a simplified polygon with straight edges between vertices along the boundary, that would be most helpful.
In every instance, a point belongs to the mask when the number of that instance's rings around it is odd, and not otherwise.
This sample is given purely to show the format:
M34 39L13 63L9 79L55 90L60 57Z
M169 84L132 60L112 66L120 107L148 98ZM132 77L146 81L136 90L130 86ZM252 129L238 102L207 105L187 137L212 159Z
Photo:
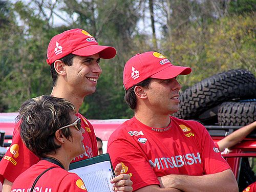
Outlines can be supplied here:
M139 82L138 84L135 84L135 86L141 86L143 88L147 88L151 82L151 79L152 78L147 78ZM137 98L134 93L135 86L131 87L129 90L126 90L124 95L125 102L130 106L132 110L136 109L136 105L137 105Z

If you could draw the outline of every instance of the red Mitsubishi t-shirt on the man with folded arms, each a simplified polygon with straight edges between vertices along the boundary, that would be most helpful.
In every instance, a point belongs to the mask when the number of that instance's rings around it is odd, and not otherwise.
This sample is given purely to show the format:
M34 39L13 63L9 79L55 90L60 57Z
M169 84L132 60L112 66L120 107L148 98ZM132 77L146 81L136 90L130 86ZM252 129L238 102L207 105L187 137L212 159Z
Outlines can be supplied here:
M135 117L125 121L108 141L112 163L122 163L133 189L157 184L170 174L201 176L230 169L205 127L170 116L170 126L148 127Z

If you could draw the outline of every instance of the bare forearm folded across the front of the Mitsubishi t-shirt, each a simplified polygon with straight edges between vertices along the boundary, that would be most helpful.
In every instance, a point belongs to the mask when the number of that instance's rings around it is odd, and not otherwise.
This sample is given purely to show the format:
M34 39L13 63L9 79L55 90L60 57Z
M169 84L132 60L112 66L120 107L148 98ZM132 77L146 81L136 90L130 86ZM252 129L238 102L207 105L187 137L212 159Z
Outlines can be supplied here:
M161 188L177 188L186 192L238 192L238 184L230 169L223 172L204 175L167 175L159 177Z

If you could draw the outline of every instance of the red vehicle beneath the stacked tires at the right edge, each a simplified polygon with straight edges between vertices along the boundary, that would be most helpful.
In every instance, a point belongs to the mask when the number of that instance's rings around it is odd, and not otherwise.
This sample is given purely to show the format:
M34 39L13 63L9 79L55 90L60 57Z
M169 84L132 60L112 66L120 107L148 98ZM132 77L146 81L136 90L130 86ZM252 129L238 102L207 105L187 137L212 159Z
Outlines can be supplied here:
M240 126L206 126L211 138L218 142ZM239 191L256 181L256 130L243 141L222 153L237 179Z

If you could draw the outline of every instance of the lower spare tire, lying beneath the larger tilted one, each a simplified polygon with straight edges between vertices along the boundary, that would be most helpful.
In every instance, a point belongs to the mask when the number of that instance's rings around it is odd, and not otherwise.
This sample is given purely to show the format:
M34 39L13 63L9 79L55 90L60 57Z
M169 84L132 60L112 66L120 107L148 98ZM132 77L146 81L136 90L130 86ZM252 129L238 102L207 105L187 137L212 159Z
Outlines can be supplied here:
M245 126L256 120L256 101L224 102L218 111L219 125Z

